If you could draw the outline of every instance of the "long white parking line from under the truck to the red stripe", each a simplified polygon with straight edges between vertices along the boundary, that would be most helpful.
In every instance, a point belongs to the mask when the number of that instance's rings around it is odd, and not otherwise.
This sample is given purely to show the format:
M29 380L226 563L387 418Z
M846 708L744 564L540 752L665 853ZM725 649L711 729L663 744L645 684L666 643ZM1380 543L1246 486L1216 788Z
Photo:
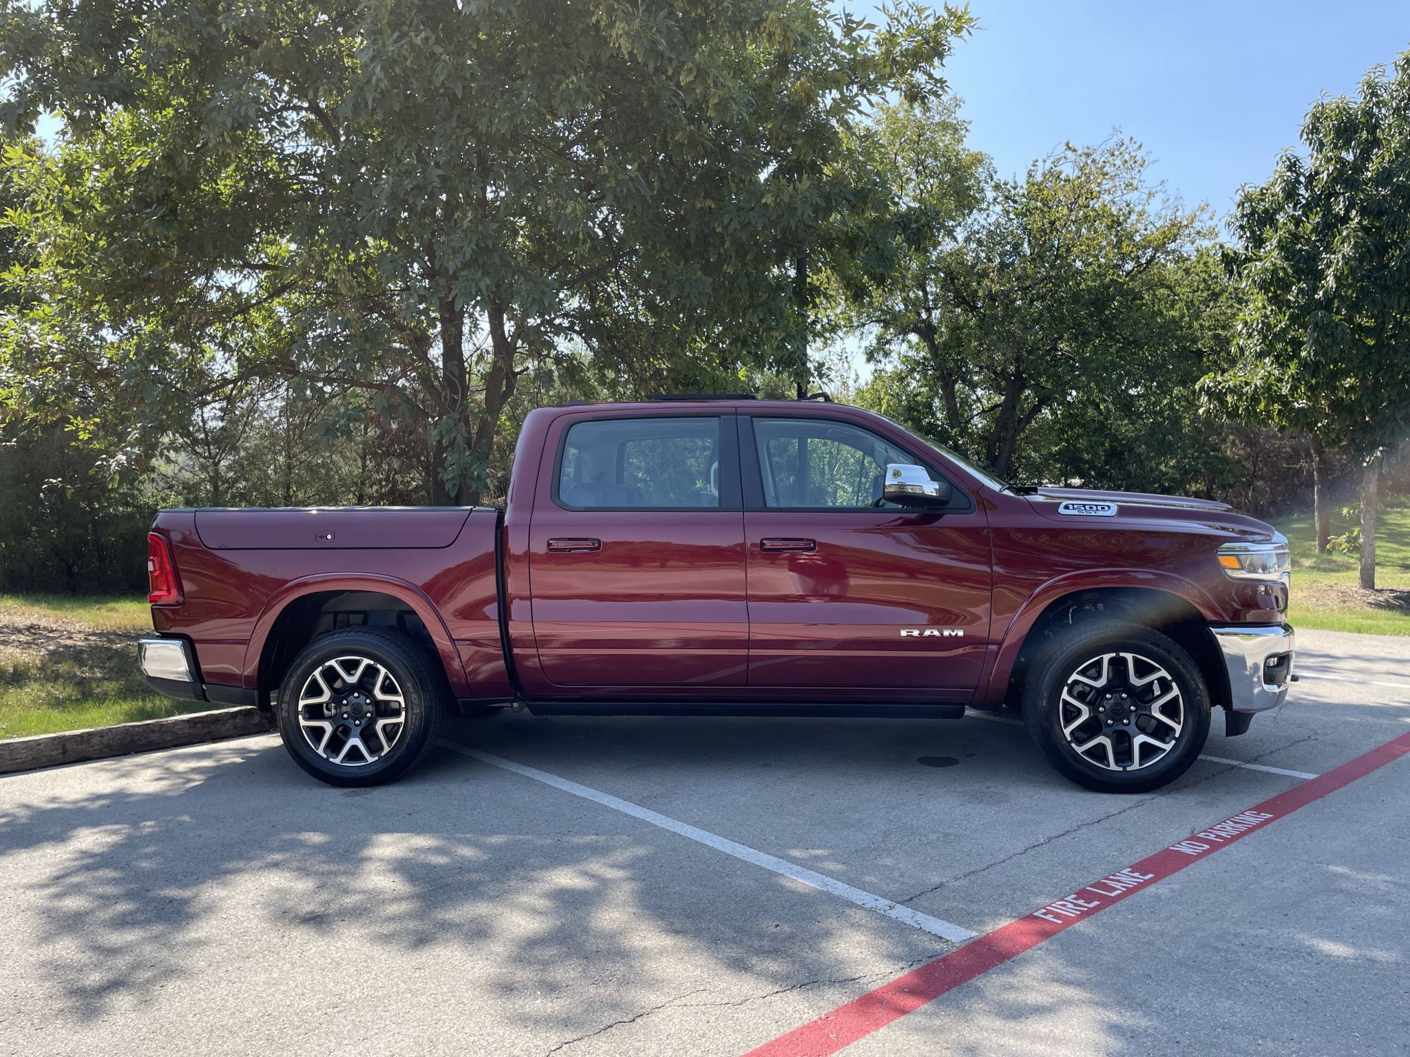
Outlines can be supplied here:
M454 741L446 740L441 740L440 744L453 753L468 755L471 760L478 760L482 764L502 767L503 769L513 771L525 778L533 778L536 782L543 782L544 785L551 785L556 789L570 792L574 796L581 796L585 801L601 803L603 808L611 808L612 810L622 812L623 815L630 815L633 819L649 822L653 826L670 830L671 833L694 840L698 844L705 844L716 851L723 851L726 855L733 855L744 863L753 863L756 867L763 867L764 870L773 871L780 877L801 881L809 888L816 888L821 892L828 892L829 895L846 899L857 906L876 910L877 913L883 913L887 917L901 922L902 925L909 925L912 929L921 929L932 936L939 936L942 940L964 943L966 940L973 940L976 936L976 933L971 933L969 929L962 929L957 925L939 917L932 917L928 913L912 910L908 906L900 906L890 899L883 899L871 892L863 892L860 888L853 888L852 885L843 884L842 881L830 878L826 874L819 874L814 870L808 870L807 867L790 863L788 860L778 858L777 855L770 855L766 851L759 851L757 848L752 848L746 844L719 837L713 833L698 829L697 826L689 826L667 815L661 815L660 812L653 812L650 808L643 808L639 803L632 803L630 801L623 801L619 796L612 796L611 793L592 789L587 785L571 782L567 778L558 778L558 775L540 771L536 767L526 767L525 764L516 764L513 760L505 760L498 755L491 755L489 753L482 753L478 748L467 748L465 746L457 746Z

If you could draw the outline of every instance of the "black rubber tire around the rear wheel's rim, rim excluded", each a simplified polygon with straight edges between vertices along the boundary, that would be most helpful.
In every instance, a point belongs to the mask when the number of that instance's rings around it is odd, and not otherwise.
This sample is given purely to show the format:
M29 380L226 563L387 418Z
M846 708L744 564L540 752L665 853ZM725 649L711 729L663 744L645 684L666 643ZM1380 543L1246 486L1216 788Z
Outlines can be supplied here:
M357 630L334 631L310 643L285 672L279 686L279 734L289 755L305 771L333 785L379 785L400 777L422 755L431 733L431 713L440 700L427 685L424 665L417 665L415 643L403 636ZM402 691L406 724L392 750L371 764L344 767L320 757L299 727L299 693L316 668L337 657L367 657L386 668ZM419 671L420 669L420 671Z

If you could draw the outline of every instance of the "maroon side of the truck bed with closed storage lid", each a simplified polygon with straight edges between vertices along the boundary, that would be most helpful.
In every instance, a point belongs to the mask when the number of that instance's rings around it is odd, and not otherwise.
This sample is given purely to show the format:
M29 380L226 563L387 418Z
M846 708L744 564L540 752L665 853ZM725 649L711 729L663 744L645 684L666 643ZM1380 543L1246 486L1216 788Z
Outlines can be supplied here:
M499 514L494 507L162 510L154 531L172 544L183 598L154 606L152 622L192 643L210 700L258 702L276 689L258 681L276 620L276 640L289 630L302 640L358 623L412 627L440 655L457 698L508 693L495 583ZM336 592L343 595L334 599Z

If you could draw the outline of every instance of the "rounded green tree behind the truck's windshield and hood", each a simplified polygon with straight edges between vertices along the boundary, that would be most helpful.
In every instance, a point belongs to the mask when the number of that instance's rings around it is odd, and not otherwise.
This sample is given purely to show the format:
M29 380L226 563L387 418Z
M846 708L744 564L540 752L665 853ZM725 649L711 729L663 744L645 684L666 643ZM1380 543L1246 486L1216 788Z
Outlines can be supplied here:
M1118 423L1152 448L1180 437L1189 416L1172 393L1208 369L1222 319L1221 276L1194 252L1201 211L1152 185L1129 140L1069 145L997 180L950 113L898 114L905 134L878 138L918 223L898 231L898 282L847 290L885 365L867 399L1001 476L1097 483L1129 440Z

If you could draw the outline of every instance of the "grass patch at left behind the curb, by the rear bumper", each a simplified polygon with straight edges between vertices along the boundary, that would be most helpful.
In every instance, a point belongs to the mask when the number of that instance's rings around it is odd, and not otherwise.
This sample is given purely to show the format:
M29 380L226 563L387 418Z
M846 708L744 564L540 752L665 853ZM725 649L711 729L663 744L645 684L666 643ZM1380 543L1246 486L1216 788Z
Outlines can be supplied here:
M0 738L214 707L148 689L135 643L151 626L142 599L0 595Z

